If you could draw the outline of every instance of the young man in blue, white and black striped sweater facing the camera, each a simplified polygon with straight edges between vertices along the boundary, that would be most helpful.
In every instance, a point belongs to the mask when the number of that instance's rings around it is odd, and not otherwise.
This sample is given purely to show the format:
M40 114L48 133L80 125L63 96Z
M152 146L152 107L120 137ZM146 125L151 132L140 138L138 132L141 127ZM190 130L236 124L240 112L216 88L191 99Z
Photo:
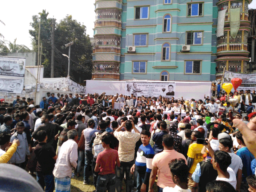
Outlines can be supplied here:
M137 151L135 164L131 168L133 173L135 170L137 175L137 192L148 192L149 176L152 169L152 160L155 156L154 150L149 144L150 132L142 130L140 148Z

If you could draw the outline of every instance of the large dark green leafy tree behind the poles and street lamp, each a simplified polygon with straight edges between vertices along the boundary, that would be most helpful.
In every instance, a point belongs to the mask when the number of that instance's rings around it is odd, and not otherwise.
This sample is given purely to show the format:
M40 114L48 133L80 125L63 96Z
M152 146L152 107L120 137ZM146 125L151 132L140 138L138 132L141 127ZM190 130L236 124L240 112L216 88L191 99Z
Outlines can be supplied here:
M41 19L40 40L43 44L43 65L44 77L50 77L51 73L51 31L52 19L47 19L49 12L43 10L39 15L32 16L33 22L30 26L29 34L33 39L33 49L37 50L38 26ZM65 44L74 41L71 45L70 53L70 77L75 81L91 79L92 71L92 46L89 36L86 35L86 27L67 15L55 23L54 30L54 77L65 77L68 74L68 58L62 54L68 55L68 47Z

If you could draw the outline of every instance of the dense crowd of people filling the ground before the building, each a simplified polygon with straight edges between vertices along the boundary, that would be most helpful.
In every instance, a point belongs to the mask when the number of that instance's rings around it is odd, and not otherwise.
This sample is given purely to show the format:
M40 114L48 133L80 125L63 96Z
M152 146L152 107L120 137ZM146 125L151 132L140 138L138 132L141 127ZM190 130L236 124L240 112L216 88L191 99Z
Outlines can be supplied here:
M255 91L219 94L17 96L0 105L0 163L47 192L80 176L97 192L153 192L156 177L158 192L256 192Z

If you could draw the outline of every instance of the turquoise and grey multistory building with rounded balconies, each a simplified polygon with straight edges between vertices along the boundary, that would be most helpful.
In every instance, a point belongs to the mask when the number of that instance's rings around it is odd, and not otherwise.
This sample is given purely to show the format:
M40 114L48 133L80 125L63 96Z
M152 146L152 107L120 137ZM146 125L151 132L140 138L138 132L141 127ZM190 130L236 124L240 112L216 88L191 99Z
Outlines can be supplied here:
M212 81L246 73L249 0L96 0L95 80ZM230 38L229 10L241 7ZM216 38L218 11L227 9Z

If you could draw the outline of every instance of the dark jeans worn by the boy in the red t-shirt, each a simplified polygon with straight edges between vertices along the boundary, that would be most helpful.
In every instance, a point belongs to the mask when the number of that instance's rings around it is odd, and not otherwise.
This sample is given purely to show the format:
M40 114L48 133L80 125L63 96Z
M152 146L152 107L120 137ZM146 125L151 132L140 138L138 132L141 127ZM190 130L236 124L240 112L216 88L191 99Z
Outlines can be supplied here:
M116 175L115 174L107 174L107 175L99 175L97 179L97 192L105 192L105 189L108 187L108 192L116 191Z

